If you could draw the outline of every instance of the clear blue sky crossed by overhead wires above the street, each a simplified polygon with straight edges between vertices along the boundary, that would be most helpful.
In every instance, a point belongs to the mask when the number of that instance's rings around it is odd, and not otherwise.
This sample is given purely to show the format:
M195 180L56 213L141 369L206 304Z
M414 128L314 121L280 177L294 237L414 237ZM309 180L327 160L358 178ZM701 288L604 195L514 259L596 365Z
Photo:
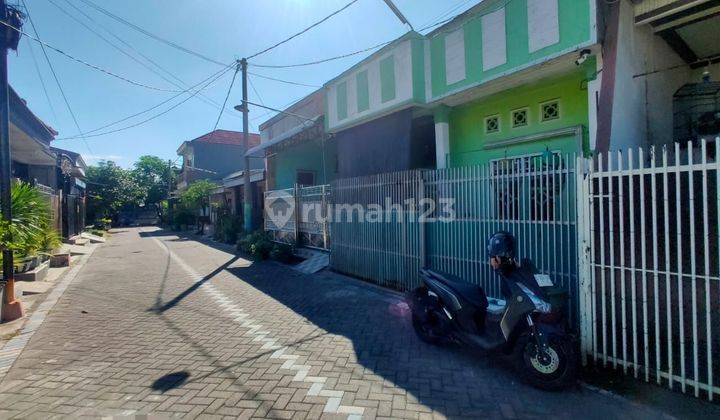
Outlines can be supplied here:
M91 1L156 35L228 63L260 51L349 3L349 0ZM43 41L134 81L162 89L177 89L176 86L150 72L73 21L53 3L74 14L106 39L122 47L128 54L143 61L142 57L121 44L107 31L121 38L188 85L194 85L220 70L216 64L173 49L110 19L88 7L81 0L25 0L25 2ZM395 1L416 28L435 22L448 12L450 14L445 17L455 15L478 2L479 0ZM70 4L84 11L94 22L74 10ZM33 33L27 20L24 30ZM255 58L251 63L290 64L332 57L391 40L406 31L405 25L397 20L382 0L359 0L321 26ZM31 47L30 43L32 43ZM367 54L311 67L251 68L250 71L269 77L321 86ZM33 63L33 55L47 87L49 101L42 89ZM48 55L84 132L150 108L175 95L128 84L51 50L48 50ZM34 41L23 39L18 52L10 52L9 66L11 85L27 100L33 112L60 133L59 139L76 136L78 130L50 73L40 46ZM166 77L170 78L167 75ZM232 72L227 73L205 90L205 95L217 103L222 103L231 78ZM238 77L238 83L228 101L230 109L240 103L239 81ZM257 93L252 88L249 89L250 101L262 102L271 107L283 107L314 90L311 87L292 86L253 76L251 81ZM153 113L128 120L110 129L122 128L141 121L177 101L179 99L169 102ZM110 159L122 166L130 166L137 157L145 154L175 159L175 151L180 143L212 130L218 114L219 110L216 106L193 98L146 124L105 136L87 138L87 145L79 138L57 140L54 143L57 147L82 153L88 163L95 163L99 159ZM267 114L263 109L251 108L251 131L257 132L257 126L271 116L272 114ZM218 128L241 131L242 119L235 111L226 111Z

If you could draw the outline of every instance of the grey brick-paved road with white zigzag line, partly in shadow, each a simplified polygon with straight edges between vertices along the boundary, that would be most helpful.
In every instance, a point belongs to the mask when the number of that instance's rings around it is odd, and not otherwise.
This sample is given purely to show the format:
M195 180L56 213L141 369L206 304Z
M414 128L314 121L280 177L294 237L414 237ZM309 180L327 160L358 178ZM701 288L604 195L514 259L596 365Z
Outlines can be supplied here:
M421 343L397 295L128 229L95 251L0 384L0 417L649 418Z

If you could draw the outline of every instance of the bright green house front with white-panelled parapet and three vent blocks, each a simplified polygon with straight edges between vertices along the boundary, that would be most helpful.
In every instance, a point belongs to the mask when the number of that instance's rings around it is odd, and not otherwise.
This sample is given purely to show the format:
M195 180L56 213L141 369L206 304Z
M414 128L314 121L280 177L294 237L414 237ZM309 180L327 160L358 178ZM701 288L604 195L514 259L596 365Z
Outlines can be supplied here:
M595 0L486 0L427 35L437 166L593 148Z

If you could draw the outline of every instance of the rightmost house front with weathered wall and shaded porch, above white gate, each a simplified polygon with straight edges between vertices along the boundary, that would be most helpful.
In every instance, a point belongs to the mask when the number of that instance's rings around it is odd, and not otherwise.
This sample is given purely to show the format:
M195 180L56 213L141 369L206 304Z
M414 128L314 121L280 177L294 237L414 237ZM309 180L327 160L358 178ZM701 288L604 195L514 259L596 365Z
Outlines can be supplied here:
M618 2L605 16L598 150L720 135L720 4Z

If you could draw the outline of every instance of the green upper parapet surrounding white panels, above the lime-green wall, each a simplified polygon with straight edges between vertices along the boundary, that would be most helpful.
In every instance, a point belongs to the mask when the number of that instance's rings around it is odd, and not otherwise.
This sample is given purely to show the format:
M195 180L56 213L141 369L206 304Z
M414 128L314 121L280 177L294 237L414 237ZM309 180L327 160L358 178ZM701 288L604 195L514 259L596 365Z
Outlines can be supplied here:
M440 32L430 41L432 66L432 95L442 96L448 92L477 83L482 83L501 73L522 67L543 57L572 49L591 40L590 2L588 0L558 0L558 21L560 42L529 52L527 2L532 0L488 1L487 9L467 18L465 34L466 78L447 85L445 77L445 33ZM480 16L498 10L507 4L505 10L505 32L507 39L507 62L501 66L483 71L482 25Z

